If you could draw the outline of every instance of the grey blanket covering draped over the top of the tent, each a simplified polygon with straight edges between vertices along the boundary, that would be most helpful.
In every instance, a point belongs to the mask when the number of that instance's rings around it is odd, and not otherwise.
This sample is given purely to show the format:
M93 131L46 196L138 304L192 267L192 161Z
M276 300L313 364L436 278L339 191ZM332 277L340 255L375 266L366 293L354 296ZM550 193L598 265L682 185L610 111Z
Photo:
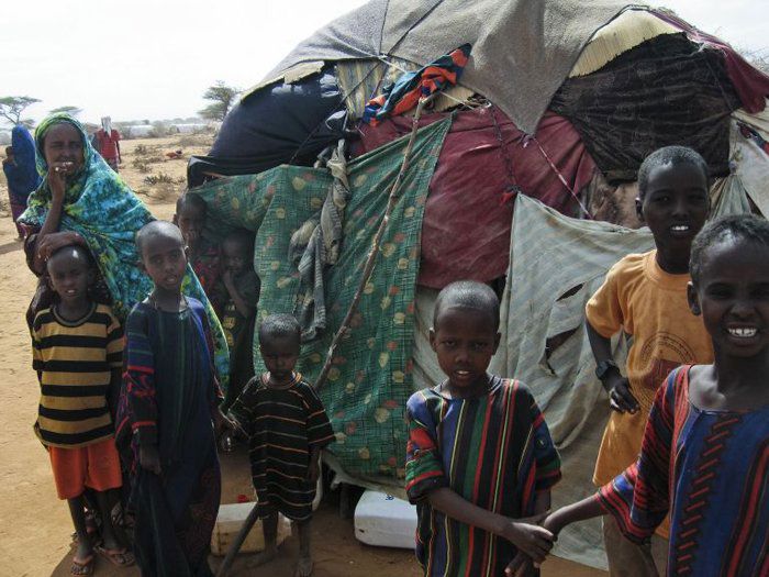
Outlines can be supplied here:
M532 134L591 36L628 5L615 0L372 0L301 42L265 80L315 60L389 55L425 66L468 43L472 57L462 84Z

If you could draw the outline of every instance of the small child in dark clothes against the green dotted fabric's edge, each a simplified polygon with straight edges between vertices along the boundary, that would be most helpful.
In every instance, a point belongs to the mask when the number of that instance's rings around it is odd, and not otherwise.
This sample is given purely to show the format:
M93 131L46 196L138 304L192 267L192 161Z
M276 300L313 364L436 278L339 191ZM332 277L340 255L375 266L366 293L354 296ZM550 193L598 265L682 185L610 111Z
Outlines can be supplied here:
M254 320L260 281L254 271L254 233L231 232L221 248L222 278L216 288L220 320L230 347L230 389L226 410L254 376Z

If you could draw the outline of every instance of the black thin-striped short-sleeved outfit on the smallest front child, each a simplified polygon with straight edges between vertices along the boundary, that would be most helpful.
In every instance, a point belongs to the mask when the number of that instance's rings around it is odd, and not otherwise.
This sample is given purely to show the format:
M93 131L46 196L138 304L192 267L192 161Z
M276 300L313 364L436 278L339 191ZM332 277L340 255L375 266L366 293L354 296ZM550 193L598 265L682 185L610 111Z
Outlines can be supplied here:
M294 521L312 517L315 484L307 480L310 452L334 441L334 430L312 386L299 373L285 389L267 386L267 375L254 377L232 411L249 436L259 503Z

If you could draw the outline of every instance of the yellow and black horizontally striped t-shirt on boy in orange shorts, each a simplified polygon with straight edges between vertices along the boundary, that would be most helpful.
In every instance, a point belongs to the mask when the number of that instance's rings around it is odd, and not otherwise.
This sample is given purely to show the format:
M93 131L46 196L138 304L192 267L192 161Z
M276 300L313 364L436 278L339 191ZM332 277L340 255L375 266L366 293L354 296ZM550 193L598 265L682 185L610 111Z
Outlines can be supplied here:
M122 367L123 331L105 304L78 321L56 307L32 325L32 366L41 386L35 433L46 446L78 447L113 435L107 402L113 369Z

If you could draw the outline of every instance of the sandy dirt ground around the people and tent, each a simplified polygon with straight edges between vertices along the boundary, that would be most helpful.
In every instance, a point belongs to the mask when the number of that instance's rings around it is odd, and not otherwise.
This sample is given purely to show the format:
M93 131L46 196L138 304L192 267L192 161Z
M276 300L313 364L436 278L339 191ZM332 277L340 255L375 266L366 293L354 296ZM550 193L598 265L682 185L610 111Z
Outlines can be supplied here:
M174 201L183 188L190 154L203 154L210 137L175 136L123 143L121 174L158 218L174 212ZM143 146L140 148L140 146ZM164 160L166 152L183 149L185 158ZM137 151L138 149L138 154ZM153 162L148 162L152 159ZM147 167L149 171L146 170ZM170 180L151 185L147 176L167 175ZM0 198L7 199L0 182ZM0 576L69 574L73 531L67 506L58 501L47 454L32 432L37 409L38 387L32 371L30 336L24 311L34 292L35 278L27 270L20 242L8 212L0 212ZM245 454L233 453L222 459L224 491L222 502L236 502L238 495L250 495ZM313 521L313 552L317 577L416 577L420 575L413 553L378 548L356 541L353 522L338 515L338 496L331 493ZM264 574L290 577L297 541L290 537L278 559L260 569L242 555L231 575ZM212 557L212 566L221 559ZM97 561L96 575L138 576L137 569L115 569ZM606 575L569 562L551 558L543 576L592 577Z

